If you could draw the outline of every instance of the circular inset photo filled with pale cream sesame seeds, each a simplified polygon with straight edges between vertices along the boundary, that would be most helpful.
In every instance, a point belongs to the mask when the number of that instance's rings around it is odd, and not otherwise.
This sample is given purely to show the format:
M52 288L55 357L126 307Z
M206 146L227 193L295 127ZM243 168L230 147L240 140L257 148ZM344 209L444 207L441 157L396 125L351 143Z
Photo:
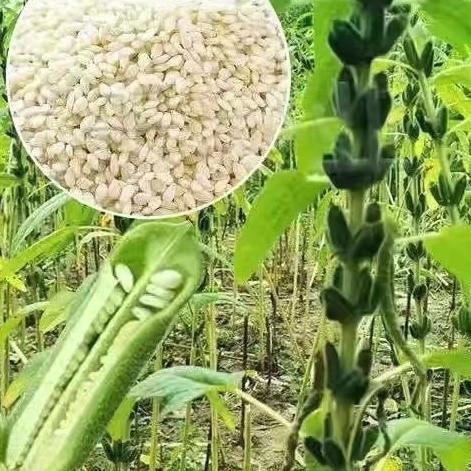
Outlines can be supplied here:
M214 203L262 164L290 78L269 0L30 0L7 92L54 183L100 210L165 217Z

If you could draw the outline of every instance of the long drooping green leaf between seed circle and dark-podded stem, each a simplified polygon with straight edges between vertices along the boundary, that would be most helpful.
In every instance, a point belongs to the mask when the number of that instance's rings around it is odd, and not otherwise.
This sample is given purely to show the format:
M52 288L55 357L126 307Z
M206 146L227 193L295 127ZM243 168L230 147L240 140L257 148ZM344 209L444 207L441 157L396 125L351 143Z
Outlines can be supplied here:
M239 283L257 270L278 237L326 186L323 179L290 170L275 173L267 181L237 239L234 271Z

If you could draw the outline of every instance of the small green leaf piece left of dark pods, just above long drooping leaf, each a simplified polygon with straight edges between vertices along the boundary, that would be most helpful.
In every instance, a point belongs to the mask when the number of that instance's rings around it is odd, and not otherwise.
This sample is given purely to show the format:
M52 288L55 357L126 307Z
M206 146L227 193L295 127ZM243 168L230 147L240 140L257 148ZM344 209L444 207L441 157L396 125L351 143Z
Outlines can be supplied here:
M292 128L298 170L309 174L323 173L322 157L329 152L342 127L338 118L304 121Z

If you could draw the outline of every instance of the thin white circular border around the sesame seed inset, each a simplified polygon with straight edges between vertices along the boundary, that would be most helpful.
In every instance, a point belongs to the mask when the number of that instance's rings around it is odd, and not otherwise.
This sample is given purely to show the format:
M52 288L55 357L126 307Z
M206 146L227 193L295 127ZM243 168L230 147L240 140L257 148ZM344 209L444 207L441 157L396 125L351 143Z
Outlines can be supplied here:
M11 38L10 38L10 45L12 44L12 42L15 40L15 36L16 36L16 25L21 21L21 16L23 15L23 12L26 10L26 8L28 8L28 5L30 5L32 2L34 2L35 0L30 0L25 6L24 8L21 10L20 12L20 15L18 16L18 19L15 23L15 27L13 29L13 33L11 35ZM77 0L77 1L80 1L80 0ZM207 1L207 0L206 0ZM26 152L28 153L28 157L35 163L36 167L41 171L41 173L53 184L55 185L58 189L62 190L63 192L67 193L72 199L78 201L80 204L84 205L84 206L88 206L89 208L92 208L94 209L95 211L98 211L100 213L106 213L106 214L111 214L113 216L118 216L118 217L122 217L122 218L126 218L126 219L137 219L137 220L143 220L143 221L156 221L156 220L161 220L161 219L172 219L172 218L177 218L177 217L181 217L181 216L188 216L190 214L194 214L194 213L197 213L199 211L202 211L203 209L206 209L206 208L209 208L210 206L213 206L215 205L216 203L218 203L219 201L223 200L224 198L227 198L228 196L232 195L235 191L237 191L237 189L239 189L242 185L244 185L254 174L257 170L260 169L260 167L263 165L263 163L265 162L265 160L267 159L268 157L268 154L270 153L270 151L275 147L275 143L276 141L278 140L278 137L280 136L280 133L281 133L281 130L283 129L283 126L285 124L285 120L286 120L286 116L288 114L288 109L289 109L289 105L290 105L290 97L291 97L291 87L292 87L292 70L291 70L291 67L292 67L292 64L291 64L291 55L290 55L290 48L289 48L289 44L288 44L288 41L286 39L286 34L285 34L285 31L283 29L283 26L281 24L281 20L278 16L278 14L276 13L275 11L275 8L273 7L273 5L271 4L270 0L262 0L264 2L266 2L268 5L268 8L271 10L271 13L274 15L274 17L276 18L276 23L278 25L278 28L279 28L279 31L280 31L280 35L281 35L281 41L283 43L283 47L286 51L286 63L287 63L287 67L288 67L288 74L287 74L287 88L286 88L286 96L285 96L285 106L284 106L284 110L283 110L283 113L282 113L282 119L280 121L280 124L278 125L278 128L274 134L274 137L271 141L271 143L268 145L267 147L267 150L266 152L264 153L264 155L261 156L261 159L260 159L260 162L253 168L253 170L251 170L250 172L247 173L247 175L242 179L240 180L236 185L234 185L228 192L224 193L223 195L221 196L218 196L217 198L215 198L213 201L211 201L210 203L206 203L204 205L201 205L201 206L197 206L193 209L190 209L188 211L182 211L182 212L179 212L179 213L173 213L173 214L164 214L164 215L160 215L160 216L143 216L143 215L136 215L136 214L125 214L125 213L117 213L115 211L110 211L109 209L105 209L105 208L102 208L100 206L97 206L95 204L91 204L87 201L84 201L80 198L77 198L76 196L73 196L70 194L70 189L67 189L65 187L63 187L60 183L58 183L55 179L49 177L43 170L41 164L31 155L31 153L29 152L28 150L28 146L25 144L25 141L23 140L23 137L21 135L21 132L18 131L18 129L16 128L16 124L15 124L15 118L13 116L13 114L11 114L11 117L12 117L12 121L13 121L13 125L15 127L15 131L16 133L18 134L18 137L20 138L20 141L21 141L21 144L23 145L24 149L26 150ZM8 103L12 103L13 100L11 99L11 95L10 95L10 86L9 86L9 80L8 80L8 76L9 76L9 70L10 68L10 48L9 48L9 51L8 51L8 55L7 55L7 67L6 67L6 93L7 93L7 99L8 99Z

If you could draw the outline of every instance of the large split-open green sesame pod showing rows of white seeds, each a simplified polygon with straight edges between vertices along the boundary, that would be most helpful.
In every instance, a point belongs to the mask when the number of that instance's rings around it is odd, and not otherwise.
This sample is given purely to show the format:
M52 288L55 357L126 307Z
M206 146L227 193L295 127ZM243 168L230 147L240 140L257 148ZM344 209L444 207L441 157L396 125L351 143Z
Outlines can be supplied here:
M143 223L123 236L11 417L8 469L83 464L196 290L201 266L188 223Z

